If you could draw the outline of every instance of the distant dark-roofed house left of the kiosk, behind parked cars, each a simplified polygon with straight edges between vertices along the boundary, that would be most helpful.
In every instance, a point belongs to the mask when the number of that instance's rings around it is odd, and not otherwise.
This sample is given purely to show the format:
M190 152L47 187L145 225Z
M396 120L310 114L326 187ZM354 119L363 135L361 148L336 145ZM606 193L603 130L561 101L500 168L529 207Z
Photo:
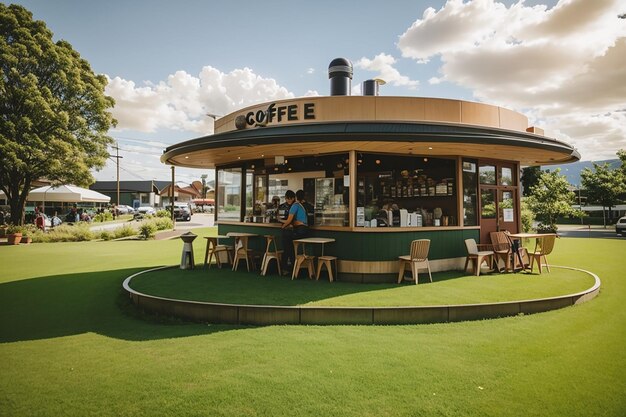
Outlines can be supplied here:
M120 201L118 204L126 204L133 207L152 206L162 207L163 197L168 200L168 195L163 190L168 189L169 181L120 181ZM117 201L117 181L97 181L91 187L111 197L111 202Z

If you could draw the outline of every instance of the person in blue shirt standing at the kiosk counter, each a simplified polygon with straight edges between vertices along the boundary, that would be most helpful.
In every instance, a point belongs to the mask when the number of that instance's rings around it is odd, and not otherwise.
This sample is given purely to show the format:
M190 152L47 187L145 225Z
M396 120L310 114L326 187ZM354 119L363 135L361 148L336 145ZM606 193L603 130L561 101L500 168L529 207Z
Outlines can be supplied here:
M302 205L304 200L304 191L298 190L295 194L293 191L288 190L285 193L285 200L288 204L291 204L289 208L289 215L287 220L280 220L283 225L283 258L282 268L283 274L291 275L290 269L295 263L296 256L293 250L294 239L302 239L308 236L309 227L306 209Z

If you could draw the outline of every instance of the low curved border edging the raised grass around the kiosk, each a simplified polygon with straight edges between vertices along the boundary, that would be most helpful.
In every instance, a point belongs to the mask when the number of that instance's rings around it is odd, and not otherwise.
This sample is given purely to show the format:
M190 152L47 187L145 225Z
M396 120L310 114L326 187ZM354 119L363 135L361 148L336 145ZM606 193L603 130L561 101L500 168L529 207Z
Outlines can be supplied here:
M137 272L124 280L123 288L133 303L140 308L159 314L214 324L246 324L266 326L274 324L426 324L467 320L483 320L557 310L581 304L595 298L600 291L600 278L593 272L566 266L591 275L595 283L591 288L576 294L535 300L506 301L501 303L456 304L440 306L407 307L323 307L323 306L271 306L247 304L221 304L201 301L176 300L143 294L130 288L131 280L162 266Z

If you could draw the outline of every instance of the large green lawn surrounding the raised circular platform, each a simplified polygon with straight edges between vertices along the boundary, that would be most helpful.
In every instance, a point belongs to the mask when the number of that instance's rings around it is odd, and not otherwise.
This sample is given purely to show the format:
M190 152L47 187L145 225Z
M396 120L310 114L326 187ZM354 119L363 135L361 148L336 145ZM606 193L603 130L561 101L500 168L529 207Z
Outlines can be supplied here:
M600 276L588 303L416 326L137 313L123 279L177 263L180 250L177 240L1 246L0 416L626 414L626 239L557 242L553 264Z

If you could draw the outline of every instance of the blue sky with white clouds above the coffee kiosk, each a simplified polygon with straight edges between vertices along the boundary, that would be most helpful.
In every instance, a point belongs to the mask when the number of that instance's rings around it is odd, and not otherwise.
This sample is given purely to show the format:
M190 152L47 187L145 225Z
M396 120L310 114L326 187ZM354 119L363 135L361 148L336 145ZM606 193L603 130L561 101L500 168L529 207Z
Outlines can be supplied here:
M624 0L14 0L109 79L122 180L169 180L165 147L213 133L259 102L328 95L328 64L354 64L353 94L485 102L574 145L626 149ZM111 149L111 153L115 151ZM176 169L191 182L212 170ZM94 172L115 180L115 159Z

